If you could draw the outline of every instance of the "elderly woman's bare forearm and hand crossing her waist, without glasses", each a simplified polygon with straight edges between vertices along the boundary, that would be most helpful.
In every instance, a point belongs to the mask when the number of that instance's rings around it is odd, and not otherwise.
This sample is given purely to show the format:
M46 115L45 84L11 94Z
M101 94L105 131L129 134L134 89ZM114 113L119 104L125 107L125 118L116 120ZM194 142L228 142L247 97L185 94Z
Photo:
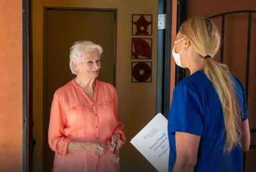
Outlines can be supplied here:
M68 153L79 152L81 150L90 152L93 155L102 155L106 152L107 148L102 143L95 141L70 141L70 143L68 143Z

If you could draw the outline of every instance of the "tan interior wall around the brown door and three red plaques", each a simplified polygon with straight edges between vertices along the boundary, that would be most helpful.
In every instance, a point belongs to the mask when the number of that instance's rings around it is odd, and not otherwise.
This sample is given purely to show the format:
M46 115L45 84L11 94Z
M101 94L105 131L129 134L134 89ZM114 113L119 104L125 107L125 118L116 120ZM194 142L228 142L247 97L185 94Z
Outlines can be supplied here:
M153 166L145 159L130 141L156 114L156 56L157 56L157 0L105 0L105 1L33 1L33 75L34 79L34 112L33 138L34 169L42 171L42 58L43 58L43 8L44 6L72 8L113 8L117 9L116 35L116 90L118 91L120 121L125 124L127 142L120 150L120 164L123 171L154 171ZM145 8L147 6L147 8ZM132 14L152 14L152 82L134 83L131 81ZM93 40L92 40L93 41ZM68 54L67 54L68 55ZM103 64L104 65L104 64ZM48 146L48 145L47 145ZM36 159L36 160L35 160Z

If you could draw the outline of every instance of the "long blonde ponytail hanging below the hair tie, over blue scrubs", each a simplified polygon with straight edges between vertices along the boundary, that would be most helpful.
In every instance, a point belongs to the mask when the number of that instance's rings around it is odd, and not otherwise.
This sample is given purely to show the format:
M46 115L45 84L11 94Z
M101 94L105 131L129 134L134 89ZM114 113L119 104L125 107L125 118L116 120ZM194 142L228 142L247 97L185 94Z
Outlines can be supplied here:
M213 83L220 97L225 120L226 143L224 152L229 153L232 148L241 147L241 136L239 134L241 132L241 110L234 83L228 74L227 66L212 59L206 59L204 72Z

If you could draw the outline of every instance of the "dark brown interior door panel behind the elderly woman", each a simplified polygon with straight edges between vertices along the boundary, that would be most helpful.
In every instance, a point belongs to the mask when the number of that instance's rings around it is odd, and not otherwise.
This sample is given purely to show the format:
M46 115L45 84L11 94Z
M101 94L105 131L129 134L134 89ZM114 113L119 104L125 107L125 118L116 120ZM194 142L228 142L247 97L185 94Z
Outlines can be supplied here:
M54 152L49 148L47 132L54 92L71 81L69 49L78 40L90 40L103 49L102 67L97 79L115 86L116 10L44 8L43 44L43 120L42 129L34 123L33 130L43 131L43 163L38 162L40 152L33 152L33 171L52 171ZM36 58L36 57L34 57ZM36 76L33 77L36 81ZM36 109L36 104L33 105ZM38 116L33 116L36 120ZM38 125L39 126L39 125Z

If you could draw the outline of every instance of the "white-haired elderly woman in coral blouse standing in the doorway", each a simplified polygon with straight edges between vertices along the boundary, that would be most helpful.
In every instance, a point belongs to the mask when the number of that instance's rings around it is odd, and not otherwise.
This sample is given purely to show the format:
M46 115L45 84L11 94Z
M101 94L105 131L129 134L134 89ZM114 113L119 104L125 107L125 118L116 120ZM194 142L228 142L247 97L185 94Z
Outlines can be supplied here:
M117 93L96 80L102 47L79 41L70 48L70 69L76 77L54 93L49 146L55 152L53 171L120 171L110 155L125 142L118 121Z

